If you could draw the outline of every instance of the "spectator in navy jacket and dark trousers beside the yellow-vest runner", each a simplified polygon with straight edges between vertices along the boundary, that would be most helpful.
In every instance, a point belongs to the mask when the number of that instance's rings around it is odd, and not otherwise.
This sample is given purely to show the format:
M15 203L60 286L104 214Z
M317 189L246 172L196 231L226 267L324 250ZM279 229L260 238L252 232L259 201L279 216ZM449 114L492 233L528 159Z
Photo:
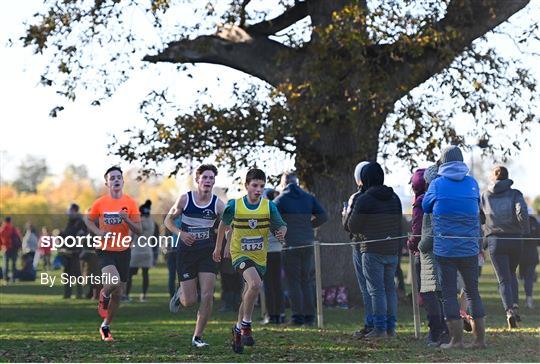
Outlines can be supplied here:
M283 191L275 202L288 226L286 245L307 246L286 250L282 255L291 300L291 323L313 325L316 299L313 229L324 224L328 216L315 196L300 188L298 178L293 172L282 175L281 186Z

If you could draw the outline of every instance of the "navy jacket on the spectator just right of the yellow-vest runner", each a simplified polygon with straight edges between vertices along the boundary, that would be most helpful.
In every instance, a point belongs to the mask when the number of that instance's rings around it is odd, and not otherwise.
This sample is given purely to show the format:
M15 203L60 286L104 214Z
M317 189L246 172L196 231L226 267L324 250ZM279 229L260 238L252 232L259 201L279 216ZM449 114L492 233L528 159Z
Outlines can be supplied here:
M313 229L328 220L328 216L315 196L305 192L295 183L285 187L274 200L279 213L287 223L285 241L289 246L311 244ZM312 216L315 218L312 220Z

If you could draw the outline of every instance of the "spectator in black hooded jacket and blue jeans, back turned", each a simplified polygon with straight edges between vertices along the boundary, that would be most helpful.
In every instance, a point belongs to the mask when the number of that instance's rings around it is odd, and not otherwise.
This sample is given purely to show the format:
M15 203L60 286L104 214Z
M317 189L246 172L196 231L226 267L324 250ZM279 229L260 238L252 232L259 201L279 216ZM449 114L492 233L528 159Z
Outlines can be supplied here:
M401 201L391 187L384 185L384 172L377 162L362 169L365 193L352 207L349 231L363 236L360 244L362 268L373 307L375 328L366 338L396 336L397 292L394 283L398 264L399 239L403 217ZM382 239L383 241L370 242Z

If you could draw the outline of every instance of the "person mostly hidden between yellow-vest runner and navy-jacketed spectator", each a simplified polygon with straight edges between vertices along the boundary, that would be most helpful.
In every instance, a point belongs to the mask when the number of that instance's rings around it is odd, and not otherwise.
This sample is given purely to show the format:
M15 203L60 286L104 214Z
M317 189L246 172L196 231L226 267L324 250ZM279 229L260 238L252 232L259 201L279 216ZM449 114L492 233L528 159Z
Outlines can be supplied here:
M273 201L279 193L271 188L265 189L263 197ZM281 324L285 322L285 302L281 287L281 243L270 235L268 237L268 254L266 273L264 275L264 297L266 301L267 317L264 323Z

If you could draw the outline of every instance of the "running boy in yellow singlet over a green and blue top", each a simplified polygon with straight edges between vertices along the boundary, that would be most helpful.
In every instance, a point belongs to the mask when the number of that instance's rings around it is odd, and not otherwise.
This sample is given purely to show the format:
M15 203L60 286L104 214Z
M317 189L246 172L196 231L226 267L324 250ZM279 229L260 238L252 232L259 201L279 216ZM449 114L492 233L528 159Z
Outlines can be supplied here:
M233 267L242 274L246 284L242 294L242 304L238 312L238 322L232 329L232 349L242 353L243 346L253 346L251 335L251 315L255 300L262 287L262 277L266 271L268 234L283 241L287 227L276 205L262 198L266 175L260 169L251 169L246 175L247 195L230 200L223 211L219 224L213 258L221 261L221 244L225 231L232 226L231 239L227 241L224 256L232 259Z

